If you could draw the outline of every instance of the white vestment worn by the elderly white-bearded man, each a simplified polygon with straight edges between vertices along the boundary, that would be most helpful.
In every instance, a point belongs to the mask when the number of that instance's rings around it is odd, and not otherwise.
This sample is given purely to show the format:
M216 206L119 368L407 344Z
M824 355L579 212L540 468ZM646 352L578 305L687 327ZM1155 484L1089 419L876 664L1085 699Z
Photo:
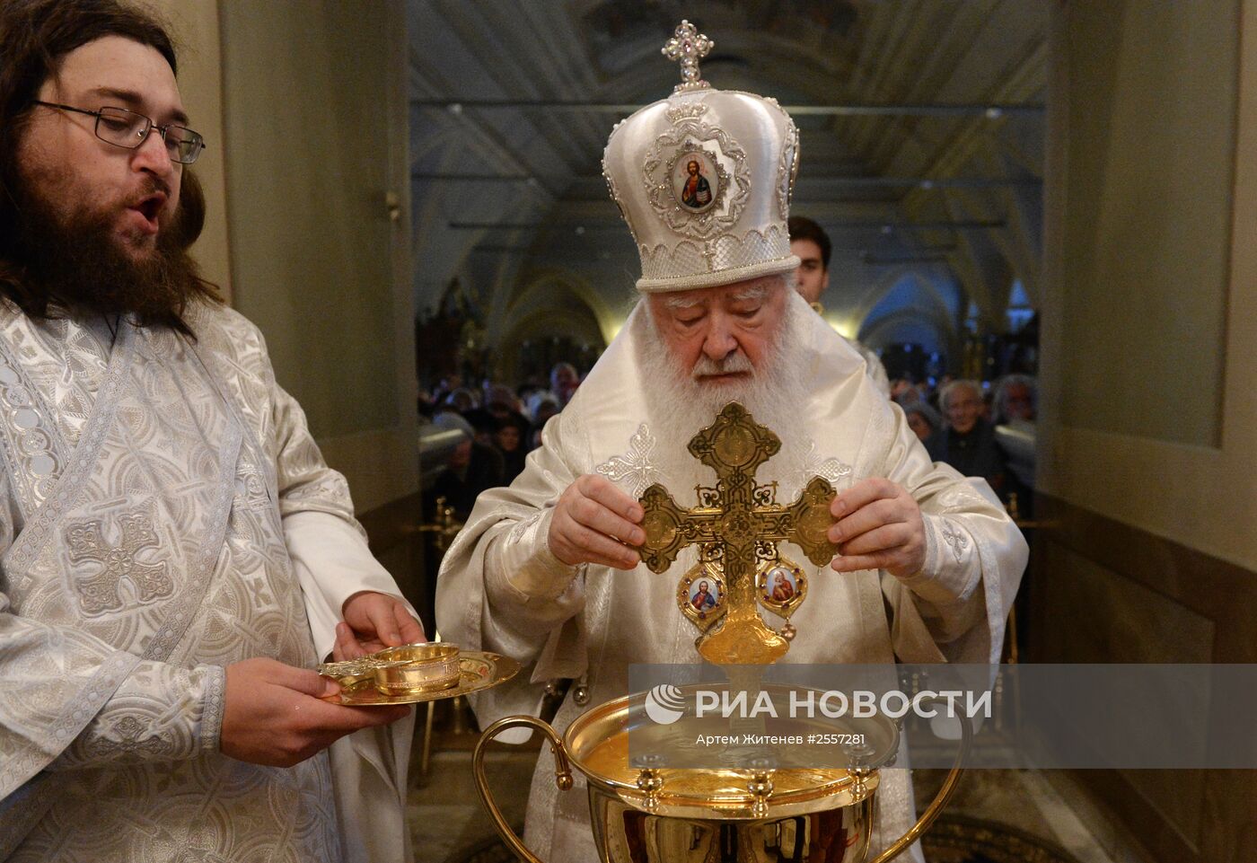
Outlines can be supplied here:
M802 550L782 543L783 555L808 569L807 600L791 618L798 634L783 662L998 662L1026 541L987 483L933 464L903 411L866 375L860 355L802 298L792 293L791 302L806 321L787 351L804 395L791 415L754 416L783 444L757 481L776 481L783 503L813 476L838 491L887 477L920 504L926 561L909 579L872 570L838 574L807 564ZM634 497L661 482L683 507L696 506L696 482L714 484L708 468L689 474L680 467L696 464L685 447L698 428L684 439L656 435L666 421L660 400L651 398L661 372L637 361L649 326L639 304L572 403L546 425L543 445L528 455L524 472L509 488L480 496L442 561L436 596L442 637L525 665L510 683L476 697L481 726L512 713L535 715L547 681L574 678L581 686L569 691L554 720L562 735L586 707L627 694L631 663L700 660L698 633L676 606L678 584L696 560L693 546L656 575L644 565L628 572L568 567L547 542L559 494L582 474L602 474ZM574 693L586 688L588 698L576 703ZM882 771L877 800L875 848L913 824L905 770ZM548 750L533 776L525 842L552 863L597 859L585 782L577 774L577 786L559 793Z

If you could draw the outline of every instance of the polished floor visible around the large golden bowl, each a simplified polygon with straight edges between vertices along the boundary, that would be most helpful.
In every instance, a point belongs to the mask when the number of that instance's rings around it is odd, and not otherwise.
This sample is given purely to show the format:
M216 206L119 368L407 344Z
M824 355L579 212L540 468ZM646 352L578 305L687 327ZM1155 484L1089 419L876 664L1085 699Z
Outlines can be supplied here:
M411 767L409 820L416 863L458 863L494 838L493 823L475 794L470 735L439 735L426 775L420 740ZM499 747L485 760L505 818L520 827L537 747ZM914 771L918 806L924 808L945 776ZM1063 774L1036 770L970 770L948 811L1019 828L1070 852L1079 863L1148 863L1104 814L1086 803Z

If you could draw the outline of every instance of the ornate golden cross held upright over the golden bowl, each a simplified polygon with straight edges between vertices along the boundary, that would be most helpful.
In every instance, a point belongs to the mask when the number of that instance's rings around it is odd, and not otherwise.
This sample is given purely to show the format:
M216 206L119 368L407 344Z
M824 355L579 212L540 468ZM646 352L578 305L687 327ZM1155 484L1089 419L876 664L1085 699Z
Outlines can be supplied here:
M700 560L719 562L724 570L724 623L699 642L708 662L767 664L789 649L759 618L755 601L755 571L760 562L778 559L778 542L793 542L817 565L837 554L827 537L836 494L827 479L813 477L789 506L776 502L776 483L755 483L755 470L781 447L776 434L730 401L690 440L690 454L716 473L715 488L699 487L699 506L683 509L659 483L641 496L646 541L640 552L652 572L666 571L688 545L699 545Z

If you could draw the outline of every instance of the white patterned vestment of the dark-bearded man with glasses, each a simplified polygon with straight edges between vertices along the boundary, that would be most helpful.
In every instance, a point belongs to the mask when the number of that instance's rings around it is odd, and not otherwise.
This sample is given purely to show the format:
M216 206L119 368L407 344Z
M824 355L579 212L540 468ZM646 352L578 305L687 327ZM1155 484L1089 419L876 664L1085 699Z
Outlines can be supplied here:
M258 330L189 322L0 299L0 860L401 863L409 722L219 752L226 665L313 668L344 600L398 594Z

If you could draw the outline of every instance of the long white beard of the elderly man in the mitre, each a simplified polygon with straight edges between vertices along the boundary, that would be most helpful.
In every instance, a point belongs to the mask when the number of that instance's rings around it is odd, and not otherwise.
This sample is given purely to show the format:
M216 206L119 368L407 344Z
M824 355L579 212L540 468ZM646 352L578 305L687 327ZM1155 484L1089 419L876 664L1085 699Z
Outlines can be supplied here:
M649 306L639 309L636 361L652 381L649 411L657 442L655 462L680 506L698 503L695 486L715 484L715 473L690 455L688 445L730 401L740 403L754 421L772 429L782 440L778 454L759 469L755 479L781 483L778 501L797 492L797 477L810 443L803 435L792 434L796 426L791 421L808 399L802 374L804 357L797 347L807 341L810 321L804 313L811 315L812 309L791 291L763 367L753 369L749 379L716 384L696 380L690 369L679 367L659 335Z

